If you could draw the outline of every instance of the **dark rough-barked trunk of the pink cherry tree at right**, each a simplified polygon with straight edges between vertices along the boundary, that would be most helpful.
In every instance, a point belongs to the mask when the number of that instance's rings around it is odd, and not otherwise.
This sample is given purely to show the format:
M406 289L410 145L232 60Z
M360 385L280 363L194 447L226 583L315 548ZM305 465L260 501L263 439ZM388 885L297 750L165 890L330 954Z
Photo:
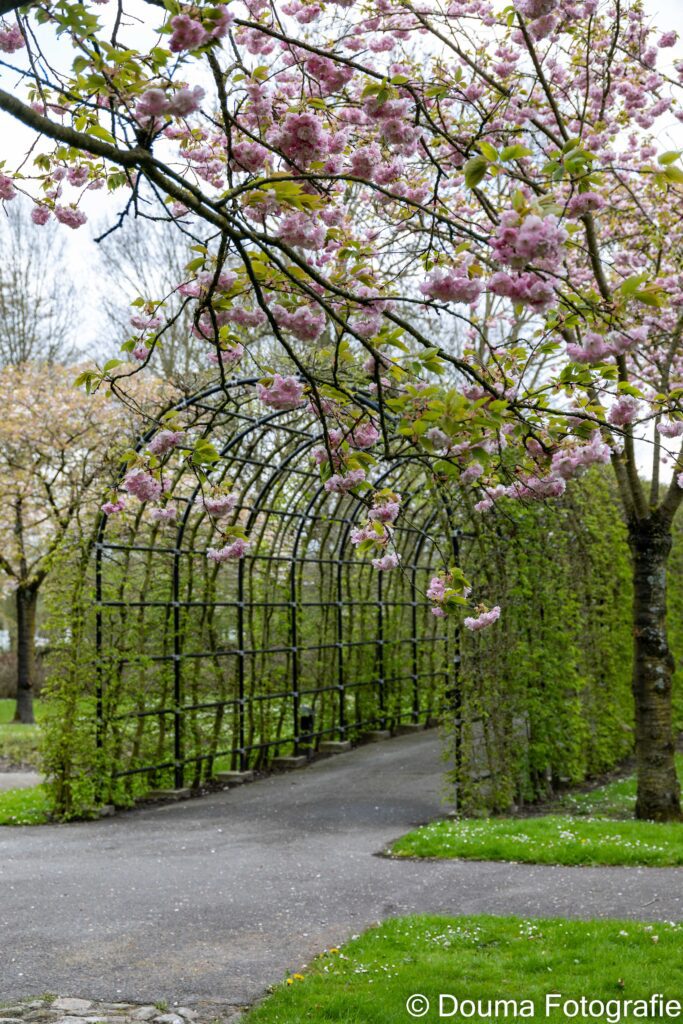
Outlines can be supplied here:
M673 821L681 817L681 790L674 763L672 676L675 663L667 638L669 526L656 516L632 524L633 696L636 714L638 796L636 817Z

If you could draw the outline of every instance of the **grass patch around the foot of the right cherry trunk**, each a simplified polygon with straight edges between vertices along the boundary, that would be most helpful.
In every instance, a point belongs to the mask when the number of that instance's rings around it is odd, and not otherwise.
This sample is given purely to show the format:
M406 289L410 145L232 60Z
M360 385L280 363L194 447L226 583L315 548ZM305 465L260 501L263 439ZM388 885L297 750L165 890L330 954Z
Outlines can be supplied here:
M677 759L683 774L683 758ZM436 821L391 847L399 857L462 857L531 864L683 864L683 824L636 821L634 776L566 794L551 813Z

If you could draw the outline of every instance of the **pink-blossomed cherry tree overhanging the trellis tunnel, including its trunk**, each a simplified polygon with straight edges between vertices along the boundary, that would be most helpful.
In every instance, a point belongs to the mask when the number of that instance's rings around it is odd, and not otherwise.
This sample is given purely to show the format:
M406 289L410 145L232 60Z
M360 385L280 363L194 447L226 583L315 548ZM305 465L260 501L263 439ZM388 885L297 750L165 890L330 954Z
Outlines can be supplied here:
M378 463L465 484L482 515L610 463L634 565L637 814L680 817L666 567L683 497L683 169L659 141L683 117L676 33L641 0L0 12L0 109L36 137L0 198L25 191L37 229L76 229L105 188L113 228L165 218L189 250L170 294L136 299L128 370L83 383L138 372L189 308L227 385L265 326L282 355L259 398L319 418L321 473L367 500L355 542L378 571L400 571ZM161 510L174 452L143 453L129 493ZM244 554L237 529L219 560ZM445 559L435 613L468 605L466 627L496 629L505 609L472 586Z

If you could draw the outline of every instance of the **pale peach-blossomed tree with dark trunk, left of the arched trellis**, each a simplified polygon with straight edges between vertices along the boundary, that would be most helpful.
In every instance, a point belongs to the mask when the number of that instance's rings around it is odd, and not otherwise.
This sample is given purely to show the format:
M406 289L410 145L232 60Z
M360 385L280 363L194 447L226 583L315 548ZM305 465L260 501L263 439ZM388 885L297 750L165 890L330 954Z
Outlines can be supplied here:
M0 570L16 608L18 722L34 721L40 588L62 545L91 526L121 443L134 436L130 411L111 395L83 402L76 372L23 364L0 373Z

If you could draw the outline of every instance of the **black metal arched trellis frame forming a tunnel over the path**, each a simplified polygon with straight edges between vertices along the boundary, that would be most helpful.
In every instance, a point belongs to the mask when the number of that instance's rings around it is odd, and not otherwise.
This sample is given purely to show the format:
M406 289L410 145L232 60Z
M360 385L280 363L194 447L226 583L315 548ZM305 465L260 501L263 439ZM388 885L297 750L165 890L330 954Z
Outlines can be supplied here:
M307 454L321 442L304 410L263 413L253 379L207 388L175 407L210 435L252 540L237 564L206 550L215 524L201 484L177 469L177 525L102 517L95 544L95 716L104 799L199 785L220 769L264 767L326 739L424 722L457 687L452 627L424 597L447 539L419 467L389 466L374 483L403 496L400 569L375 570L350 534L365 510L331 495ZM154 436L147 433L141 451Z

